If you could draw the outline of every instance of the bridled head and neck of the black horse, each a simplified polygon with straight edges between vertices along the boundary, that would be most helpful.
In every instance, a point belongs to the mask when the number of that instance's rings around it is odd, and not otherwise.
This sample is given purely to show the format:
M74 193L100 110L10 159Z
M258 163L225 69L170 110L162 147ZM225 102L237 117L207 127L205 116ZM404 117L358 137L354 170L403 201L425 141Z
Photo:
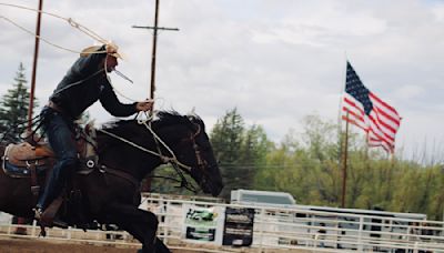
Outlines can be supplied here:
M170 162L191 175L204 193L218 196L222 191L221 172L199 117L161 111L151 122L119 121L105 130L124 140L110 138L104 144L110 148L101 160L108 165L130 173L131 168L138 168L131 174L141 180L155 166ZM117 156L122 162L113 162Z

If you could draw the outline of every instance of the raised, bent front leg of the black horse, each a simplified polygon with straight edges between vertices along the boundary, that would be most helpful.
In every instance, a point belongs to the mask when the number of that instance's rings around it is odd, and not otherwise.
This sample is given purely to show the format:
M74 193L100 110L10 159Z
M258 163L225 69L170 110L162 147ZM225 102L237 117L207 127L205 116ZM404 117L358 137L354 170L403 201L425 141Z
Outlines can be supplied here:
M114 223L142 243L143 253L168 253L170 250L155 236L159 221L148 211L133 205L113 203L108 205L105 222Z

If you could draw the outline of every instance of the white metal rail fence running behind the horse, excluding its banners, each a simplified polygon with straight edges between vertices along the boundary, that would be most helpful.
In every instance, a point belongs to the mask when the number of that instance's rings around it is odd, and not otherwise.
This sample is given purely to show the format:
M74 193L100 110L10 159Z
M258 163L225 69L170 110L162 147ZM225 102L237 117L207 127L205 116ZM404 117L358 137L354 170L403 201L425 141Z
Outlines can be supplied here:
M310 209L275 209L220 203L218 199L185 200L145 195L141 208L154 212L160 221L159 236L172 249L192 241L183 240L183 205L201 208L253 208L254 252L315 250L319 252L444 252L444 223L396 216L333 213ZM28 226L28 237L37 237L39 227ZM14 226L0 226L0 236L11 236ZM139 246L131 235L120 231L49 230L46 240ZM204 252L248 251L234 246L201 244Z

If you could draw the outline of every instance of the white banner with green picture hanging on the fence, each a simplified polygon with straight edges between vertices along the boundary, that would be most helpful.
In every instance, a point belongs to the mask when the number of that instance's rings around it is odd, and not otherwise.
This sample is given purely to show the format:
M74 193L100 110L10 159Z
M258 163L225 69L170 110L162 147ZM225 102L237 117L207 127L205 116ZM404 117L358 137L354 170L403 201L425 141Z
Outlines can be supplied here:
M200 208L184 204L184 239L222 245L224 210L223 206Z

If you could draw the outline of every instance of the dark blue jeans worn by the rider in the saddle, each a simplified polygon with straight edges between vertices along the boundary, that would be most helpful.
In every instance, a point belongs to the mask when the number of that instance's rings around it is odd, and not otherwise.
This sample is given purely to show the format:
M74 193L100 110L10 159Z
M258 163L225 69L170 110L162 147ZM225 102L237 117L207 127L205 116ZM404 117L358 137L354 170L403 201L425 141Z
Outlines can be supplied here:
M52 108L44 108L41 117L43 118L43 129L47 133L49 144L54 151L57 159L44 191L37 203L38 209L46 210L62 192L63 186L79 164L79 159L72 131L73 123Z

